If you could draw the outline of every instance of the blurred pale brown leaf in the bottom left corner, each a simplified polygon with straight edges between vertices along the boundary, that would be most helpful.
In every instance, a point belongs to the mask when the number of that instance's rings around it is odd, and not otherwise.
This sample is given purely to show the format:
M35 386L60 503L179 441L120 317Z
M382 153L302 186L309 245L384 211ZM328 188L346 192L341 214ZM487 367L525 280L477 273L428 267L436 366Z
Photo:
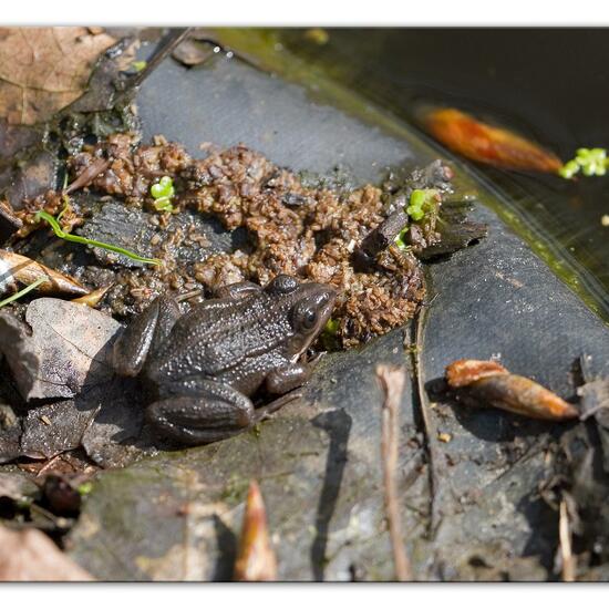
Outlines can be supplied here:
M40 530L0 527L0 581L92 581Z

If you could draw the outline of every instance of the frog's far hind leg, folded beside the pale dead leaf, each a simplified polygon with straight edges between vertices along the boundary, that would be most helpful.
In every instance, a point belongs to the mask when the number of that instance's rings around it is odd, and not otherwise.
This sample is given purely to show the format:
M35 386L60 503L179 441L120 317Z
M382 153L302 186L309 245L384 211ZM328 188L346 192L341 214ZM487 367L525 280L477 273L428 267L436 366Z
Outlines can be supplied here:
M148 352L163 343L179 317L179 307L171 296L155 298L114 343L114 370L124 376L136 376Z

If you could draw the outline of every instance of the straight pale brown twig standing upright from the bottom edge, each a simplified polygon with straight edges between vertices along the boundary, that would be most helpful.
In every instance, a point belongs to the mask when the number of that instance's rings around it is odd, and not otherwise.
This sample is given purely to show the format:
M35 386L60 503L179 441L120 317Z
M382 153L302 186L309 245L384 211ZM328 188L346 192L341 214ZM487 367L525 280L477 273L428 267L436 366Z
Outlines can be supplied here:
M395 471L399 456L399 414L405 384L405 372L400 367L381 364L376 367L376 378L385 394L381 411L381 455L383 460L385 512L393 548L395 577L399 581L412 581L412 567L402 537L398 491L395 488Z

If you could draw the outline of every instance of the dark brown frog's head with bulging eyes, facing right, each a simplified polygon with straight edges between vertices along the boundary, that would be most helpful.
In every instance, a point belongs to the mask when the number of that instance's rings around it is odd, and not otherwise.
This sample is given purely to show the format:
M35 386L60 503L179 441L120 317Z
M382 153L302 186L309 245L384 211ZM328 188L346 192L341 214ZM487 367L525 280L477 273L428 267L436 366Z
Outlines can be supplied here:
M289 275L278 275L265 290L279 298L290 324L287 355L293 360L311 344L330 319L337 291L323 283L299 283Z

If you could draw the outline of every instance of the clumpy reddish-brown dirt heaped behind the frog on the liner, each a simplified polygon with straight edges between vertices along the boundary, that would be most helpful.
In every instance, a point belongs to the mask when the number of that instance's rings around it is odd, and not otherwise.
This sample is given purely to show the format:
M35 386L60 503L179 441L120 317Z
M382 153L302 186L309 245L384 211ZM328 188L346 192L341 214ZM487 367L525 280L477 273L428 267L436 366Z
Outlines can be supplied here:
M403 324L423 301L419 256L441 241L435 211L420 223L410 223L411 247L398 247L392 239L365 265L358 264L357 256L364 238L395 211L395 192L400 190L402 199L409 194L409 178L400 188L391 187L393 195L391 189L371 185L352 190L311 187L244 145L213 151L199 159L162 136L151 145L138 145L130 134L112 135L70 156L71 179L91 172L93 164L105 168L90 182L89 189L143 210L162 231L149 245L153 255L163 259L163 267L120 271L107 300L113 313L142 310L163 287L176 292L203 287L209 295L236 281L265 285L278 273L289 273L338 289L330 339L336 347L349 348ZM444 178L450 176L445 169ZM419 180L421 175L413 174ZM149 195L151 186L162 176L174 180L173 214L156 211ZM412 176L411 183L411 192L421 187ZM437 190L437 208L447 189L443 183ZM37 209L56 213L60 200L51 192L30 202L20 214L23 233L35 226ZM233 251L213 252L183 265L172 255L177 245L206 238L193 228L175 229L172 216L188 210L217 217L229 231L245 229L246 242ZM407 223L407 215L403 216ZM62 220L79 224L70 214Z

